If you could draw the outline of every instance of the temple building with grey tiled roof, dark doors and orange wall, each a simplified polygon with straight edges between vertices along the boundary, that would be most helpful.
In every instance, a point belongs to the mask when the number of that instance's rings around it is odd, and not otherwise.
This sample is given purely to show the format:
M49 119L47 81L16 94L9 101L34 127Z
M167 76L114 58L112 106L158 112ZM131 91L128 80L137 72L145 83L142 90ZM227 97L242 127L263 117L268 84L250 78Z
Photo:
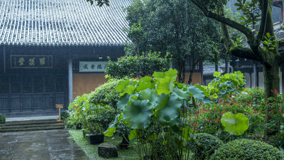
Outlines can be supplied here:
M0 1L0 113L54 114L104 83L107 56L124 55L131 0Z

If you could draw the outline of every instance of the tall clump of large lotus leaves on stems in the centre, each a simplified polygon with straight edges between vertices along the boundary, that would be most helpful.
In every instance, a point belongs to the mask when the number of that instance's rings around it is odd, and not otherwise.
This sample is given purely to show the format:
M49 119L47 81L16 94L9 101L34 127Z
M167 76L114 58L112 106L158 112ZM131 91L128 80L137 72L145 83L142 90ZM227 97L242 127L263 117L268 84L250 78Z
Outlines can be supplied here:
M186 123L186 104L201 102L205 97L199 88L175 82L177 73L170 69L155 72L153 78L119 82L116 91L121 92L118 102L121 114L104 134L112 136L119 123L124 123L131 128L129 139L138 140L141 158L181 159L182 154L187 154L183 148L193 130ZM144 150L146 146L150 149Z

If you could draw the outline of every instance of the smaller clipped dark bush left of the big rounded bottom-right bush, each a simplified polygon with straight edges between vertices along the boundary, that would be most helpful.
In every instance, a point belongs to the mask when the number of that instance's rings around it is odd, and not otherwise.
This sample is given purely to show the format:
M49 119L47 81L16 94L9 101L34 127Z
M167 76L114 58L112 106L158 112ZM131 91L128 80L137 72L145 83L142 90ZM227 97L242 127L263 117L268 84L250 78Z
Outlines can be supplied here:
M195 134L195 138L200 145L194 141L190 142L190 150L195 154L194 159L209 158L223 144L220 139L211 134Z

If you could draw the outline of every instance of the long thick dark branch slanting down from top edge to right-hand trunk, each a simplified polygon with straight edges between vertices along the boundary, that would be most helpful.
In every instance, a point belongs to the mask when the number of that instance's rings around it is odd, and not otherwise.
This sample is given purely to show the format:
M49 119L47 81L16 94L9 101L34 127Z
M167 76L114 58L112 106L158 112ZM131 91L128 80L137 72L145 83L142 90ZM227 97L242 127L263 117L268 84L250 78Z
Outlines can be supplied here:
M247 28L246 26L231 20L230 18L220 16L219 14L214 14L212 11L209 11L205 6L203 6L201 1L195 1L195 0L190 0L190 1L192 1L193 4L195 4L198 8L200 8L205 16L213 18L216 21L222 22L232 28L235 28L238 31L241 31L241 33L244 33L244 35L246 35L246 38L248 38L249 42L253 42L254 36L250 28Z

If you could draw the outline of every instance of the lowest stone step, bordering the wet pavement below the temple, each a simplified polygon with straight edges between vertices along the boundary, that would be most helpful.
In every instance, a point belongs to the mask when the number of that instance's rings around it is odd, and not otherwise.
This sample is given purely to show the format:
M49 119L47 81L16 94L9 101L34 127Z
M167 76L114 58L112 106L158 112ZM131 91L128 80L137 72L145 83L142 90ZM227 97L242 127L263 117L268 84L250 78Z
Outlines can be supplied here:
M64 129L64 124L60 125L44 125L44 126L26 126L26 128L6 128L0 129L0 132L25 132L25 131L38 131L38 130L50 130L50 129Z

